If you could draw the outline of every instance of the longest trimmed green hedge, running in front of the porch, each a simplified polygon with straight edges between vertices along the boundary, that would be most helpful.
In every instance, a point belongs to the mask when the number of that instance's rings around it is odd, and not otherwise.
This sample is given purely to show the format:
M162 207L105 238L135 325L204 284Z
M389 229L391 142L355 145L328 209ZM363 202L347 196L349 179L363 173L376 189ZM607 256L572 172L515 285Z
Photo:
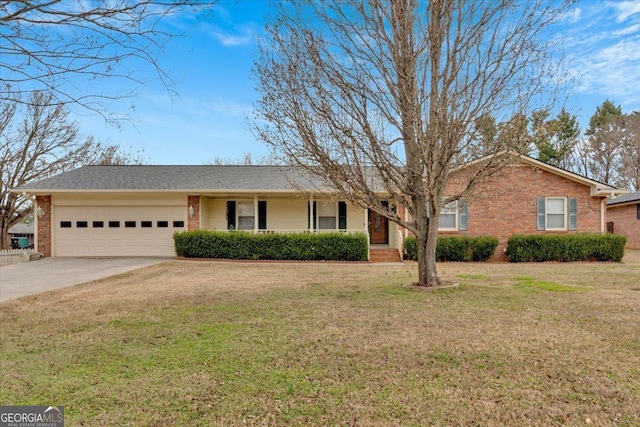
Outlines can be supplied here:
M184 231L173 235L176 254L186 258L366 261L363 233L251 234Z

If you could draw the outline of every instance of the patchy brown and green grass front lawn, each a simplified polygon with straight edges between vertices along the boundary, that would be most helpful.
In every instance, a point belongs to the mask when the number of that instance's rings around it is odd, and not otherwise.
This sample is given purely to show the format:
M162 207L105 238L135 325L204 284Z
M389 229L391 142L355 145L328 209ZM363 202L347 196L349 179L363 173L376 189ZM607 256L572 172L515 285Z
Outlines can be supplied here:
M67 425L640 425L623 264L177 261L0 305L0 405ZM1 279L0 279L1 280Z

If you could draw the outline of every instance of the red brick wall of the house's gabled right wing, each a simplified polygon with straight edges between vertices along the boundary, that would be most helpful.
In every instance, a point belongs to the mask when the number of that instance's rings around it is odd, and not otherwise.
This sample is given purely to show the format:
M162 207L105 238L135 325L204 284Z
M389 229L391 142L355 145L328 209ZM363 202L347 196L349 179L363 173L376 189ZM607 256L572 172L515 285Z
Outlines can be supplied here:
M450 191L455 186L454 177ZM467 197L468 230L441 235L497 237L500 243L495 258L506 260L507 240L514 234L600 233L603 199L592 197L590 191L587 185L528 164L509 166ZM576 231L537 229L537 199L554 196L577 199Z

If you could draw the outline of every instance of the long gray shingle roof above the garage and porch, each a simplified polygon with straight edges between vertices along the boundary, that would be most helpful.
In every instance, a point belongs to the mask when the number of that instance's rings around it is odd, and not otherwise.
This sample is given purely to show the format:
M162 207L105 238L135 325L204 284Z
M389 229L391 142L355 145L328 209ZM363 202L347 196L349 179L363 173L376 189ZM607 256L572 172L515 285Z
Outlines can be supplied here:
M317 191L319 181L287 166L84 166L14 191Z

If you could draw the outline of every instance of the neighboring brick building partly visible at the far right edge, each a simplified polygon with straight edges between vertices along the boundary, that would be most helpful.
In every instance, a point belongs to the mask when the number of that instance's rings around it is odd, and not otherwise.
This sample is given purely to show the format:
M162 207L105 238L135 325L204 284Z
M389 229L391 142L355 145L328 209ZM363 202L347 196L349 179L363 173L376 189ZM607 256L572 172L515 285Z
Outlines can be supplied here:
M627 248L640 249L640 191L609 200L607 221L612 232L627 236Z

